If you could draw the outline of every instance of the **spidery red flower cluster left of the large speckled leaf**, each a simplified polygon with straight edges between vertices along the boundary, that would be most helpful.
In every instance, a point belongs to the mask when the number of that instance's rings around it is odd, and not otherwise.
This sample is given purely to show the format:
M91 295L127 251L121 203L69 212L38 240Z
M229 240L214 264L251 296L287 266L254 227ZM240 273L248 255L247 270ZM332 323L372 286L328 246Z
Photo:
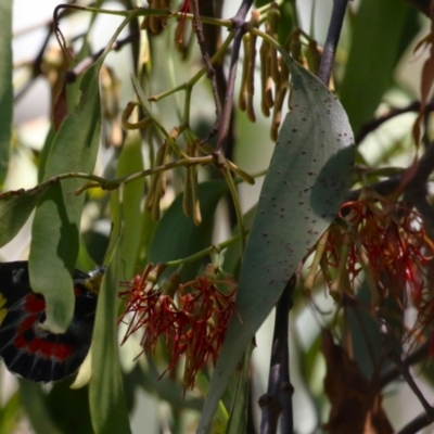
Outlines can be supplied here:
M170 354L166 371L186 356L183 385L193 387L196 373L217 360L234 311L237 286L232 280L216 280L214 272L206 272L184 284L171 279L167 286L171 294L165 294L156 284L161 271L148 266L143 275L132 279L128 289L119 293L126 299L119 321L128 322L123 343L139 332L143 350L149 355L155 354L158 342L165 344Z

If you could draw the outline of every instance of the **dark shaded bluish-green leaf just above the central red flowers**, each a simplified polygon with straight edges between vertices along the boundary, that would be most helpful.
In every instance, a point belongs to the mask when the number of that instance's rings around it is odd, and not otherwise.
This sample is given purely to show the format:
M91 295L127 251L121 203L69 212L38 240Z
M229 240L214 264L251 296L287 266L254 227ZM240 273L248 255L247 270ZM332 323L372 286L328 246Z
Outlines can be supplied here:
M202 224L195 226L191 217L182 212L182 194L173 202L159 220L151 240L149 261L152 264L181 259L210 245L214 213L220 199L228 192L225 181L207 181L197 186L201 202ZM181 280L194 279L201 264L182 268Z

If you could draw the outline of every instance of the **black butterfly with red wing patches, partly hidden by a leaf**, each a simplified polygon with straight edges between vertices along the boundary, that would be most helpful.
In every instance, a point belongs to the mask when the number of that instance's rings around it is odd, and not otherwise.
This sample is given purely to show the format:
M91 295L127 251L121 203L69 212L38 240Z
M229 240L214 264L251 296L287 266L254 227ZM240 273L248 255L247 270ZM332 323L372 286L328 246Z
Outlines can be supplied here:
M46 302L31 291L28 263L0 263L0 358L28 381L48 383L74 374L89 352L104 267L74 270L75 309L65 333L40 328Z

